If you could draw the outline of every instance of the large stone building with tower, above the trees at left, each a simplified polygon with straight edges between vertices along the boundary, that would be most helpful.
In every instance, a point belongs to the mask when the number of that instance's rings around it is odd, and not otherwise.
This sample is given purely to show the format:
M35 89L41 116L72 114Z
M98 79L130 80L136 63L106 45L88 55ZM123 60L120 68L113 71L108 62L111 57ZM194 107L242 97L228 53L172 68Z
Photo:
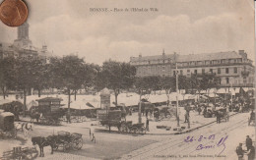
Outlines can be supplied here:
M46 59L50 56L47 51L47 46L42 45L41 48L34 47L29 37L29 24L25 23L18 27L18 37L13 43L0 42L0 58L15 57L15 58L41 58Z

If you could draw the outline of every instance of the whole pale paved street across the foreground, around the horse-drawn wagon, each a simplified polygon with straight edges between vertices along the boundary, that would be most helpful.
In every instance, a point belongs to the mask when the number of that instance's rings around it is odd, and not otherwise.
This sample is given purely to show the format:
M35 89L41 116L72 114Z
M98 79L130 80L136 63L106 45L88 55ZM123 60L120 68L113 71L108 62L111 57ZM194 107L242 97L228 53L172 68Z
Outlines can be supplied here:
M254 134L254 128L247 126L248 113L234 115L229 122L222 124L212 124L191 133L172 134L172 135L138 135L121 134L121 133L98 133L96 132L96 143L90 140L89 125L86 123L64 124L60 127L34 126L31 136L50 135L58 131L67 131L71 133L82 133L84 146L79 151L69 151L67 153L56 151L50 154L50 147L45 147L45 157L43 159L58 159L65 155L68 159L187 159L185 156L196 156L195 159L213 159L212 157L219 155L226 159L235 159L235 146L238 142L244 142L247 134ZM88 122L91 124L92 122ZM214 134L214 135L213 135ZM203 135L200 141L200 135ZM211 136L212 135L212 136ZM239 136L237 136L239 135ZM193 136L192 140L185 142L187 136ZM211 136L211 137L210 137ZM217 145L222 137L227 138ZM211 139L209 139L209 137ZM239 137L239 138L237 138ZM223 138L223 139L224 139ZM1 142L10 142L1 141ZM13 141L14 146L25 144L31 146L31 138L24 143ZM215 145L208 149L196 150L199 144L204 146ZM9 143L9 150L12 149ZM224 147L225 146L225 147ZM231 147L229 147L231 146ZM200 149L200 147L198 147ZM8 148L6 148L8 150ZM201 156L199 156L201 155ZM233 156L232 156L233 155ZM41 158L38 158L41 159Z

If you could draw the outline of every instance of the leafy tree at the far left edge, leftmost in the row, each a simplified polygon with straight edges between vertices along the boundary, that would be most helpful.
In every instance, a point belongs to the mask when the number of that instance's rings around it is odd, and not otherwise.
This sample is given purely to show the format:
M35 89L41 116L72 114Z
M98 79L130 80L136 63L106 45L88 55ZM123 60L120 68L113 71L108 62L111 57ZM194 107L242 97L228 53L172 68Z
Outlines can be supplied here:
M0 87L4 99L7 96L8 89L12 89L15 85L14 67L15 59L13 57L0 59Z

